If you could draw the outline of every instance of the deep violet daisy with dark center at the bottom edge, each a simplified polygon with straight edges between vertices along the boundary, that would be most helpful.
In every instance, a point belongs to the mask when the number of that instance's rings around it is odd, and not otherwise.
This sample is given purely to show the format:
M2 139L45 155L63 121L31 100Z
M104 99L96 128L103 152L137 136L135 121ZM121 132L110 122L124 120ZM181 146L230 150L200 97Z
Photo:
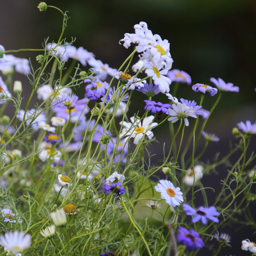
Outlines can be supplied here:
M189 251L196 251L204 247L202 238L195 230L191 229L189 231L185 227L179 227L178 232L177 241L186 245Z

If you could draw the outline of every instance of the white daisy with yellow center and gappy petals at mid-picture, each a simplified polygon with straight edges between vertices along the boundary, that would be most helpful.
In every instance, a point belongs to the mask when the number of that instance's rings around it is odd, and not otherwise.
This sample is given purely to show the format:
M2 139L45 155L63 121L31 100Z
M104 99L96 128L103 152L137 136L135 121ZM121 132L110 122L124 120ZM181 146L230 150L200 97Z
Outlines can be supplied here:
M139 144L139 141L144 138L145 135L148 137L148 139L153 138L154 134L151 132L151 129L157 126L157 123L152 123L154 116L145 117L142 124L138 118L131 117L130 120L132 123L127 123L125 121L123 123L120 122L120 124L124 127L120 134L121 138L126 136L125 141L130 138L134 138L134 144Z

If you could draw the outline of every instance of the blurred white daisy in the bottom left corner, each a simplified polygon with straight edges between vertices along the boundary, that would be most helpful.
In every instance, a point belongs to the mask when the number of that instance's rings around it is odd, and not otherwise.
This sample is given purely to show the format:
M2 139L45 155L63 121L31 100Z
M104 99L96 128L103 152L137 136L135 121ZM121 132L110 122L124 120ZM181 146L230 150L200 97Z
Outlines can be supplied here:
M11 252L15 256L21 256L20 252L31 245L31 235L17 230L13 233L5 233L4 236L0 236L0 245L4 247L4 251Z

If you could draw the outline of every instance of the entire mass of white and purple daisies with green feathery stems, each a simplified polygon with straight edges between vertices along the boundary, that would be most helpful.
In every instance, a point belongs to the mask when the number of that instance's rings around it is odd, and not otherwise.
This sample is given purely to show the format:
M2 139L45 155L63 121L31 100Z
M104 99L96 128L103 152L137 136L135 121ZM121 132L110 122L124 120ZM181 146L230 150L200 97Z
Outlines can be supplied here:
M248 150L255 120L234 124L236 145L226 156L206 156L208 144L221 140L205 132L207 121L222 94L239 88L221 78L210 78L218 89L197 81L190 87L193 77L172 70L168 40L146 22L117 42L128 57L109 67L66 41L67 12L38 5L40 15L49 8L63 16L57 41L45 39L42 49L0 45L1 255L218 255L232 238L220 232L240 218L237 210L255 226L249 205L256 155ZM37 64L12 55L24 50ZM30 85L7 79L10 70ZM180 98L184 90L190 99ZM141 109L136 95L143 97ZM211 109L203 109L211 96ZM7 108L14 109L10 116ZM163 124L166 139L157 141ZM209 193L204 177L219 166L225 178ZM254 243L241 241L255 252Z

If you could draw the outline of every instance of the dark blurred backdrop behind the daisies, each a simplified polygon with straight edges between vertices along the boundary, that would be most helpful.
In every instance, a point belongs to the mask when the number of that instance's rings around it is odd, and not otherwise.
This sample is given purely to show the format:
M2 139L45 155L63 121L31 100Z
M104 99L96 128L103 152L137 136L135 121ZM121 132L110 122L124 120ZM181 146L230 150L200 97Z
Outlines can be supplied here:
M108 63L112 68L118 68L132 51L119 45L119 40L124 37L124 33L134 33L133 25L144 21L153 34L169 40L173 68L188 72L192 77L192 84L211 85L209 78L214 77L240 87L239 94L223 93L218 108L212 114L206 131L217 134L220 142L210 145L212 155L205 154L206 159L202 161L212 161L217 151L221 154L228 152L229 141L233 139L236 142L231 129L238 122L255 122L255 0L52 0L46 3L68 11L71 18L64 34L68 42L71 37L75 37L76 47L83 46L93 52L96 59ZM35 0L1 1L0 44L6 50L41 48L46 37L49 37L50 42L59 37L62 16L52 8L39 12L38 4L39 1ZM31 57L37 65L37 54L39 53L22 52L14 55ZM23 87L29 88L25 76L17 74L15 79L22 80ZM199 94L182 86L178 89L178 98L200 101ZM203 107L210 110L214 101L214 97L205 97ZM139 109L144 108L141 95L137 103ZM137 112L138 109L130 109L128 116L132 116L134 111ZM164 132L156 132L156 135L159 141L167 142ZM255 137L252 138L251 151L256 148ZM199 149L202 146L203 140ZM157 152L159 151L153 149L153 153ZM226 169L223 166L218 171L223 173ZM216 180L218 184L220 179L221 174ZM205 184L212 185L212 180L207 177L204 177L204 181ZM228 232L227 228L219 231ZM219 255L244 255L244 251L240 249L241 240L249 238L256 241L253 230L244 227L244 231L246 233L241 232L232 239L233 248L224 249Z

